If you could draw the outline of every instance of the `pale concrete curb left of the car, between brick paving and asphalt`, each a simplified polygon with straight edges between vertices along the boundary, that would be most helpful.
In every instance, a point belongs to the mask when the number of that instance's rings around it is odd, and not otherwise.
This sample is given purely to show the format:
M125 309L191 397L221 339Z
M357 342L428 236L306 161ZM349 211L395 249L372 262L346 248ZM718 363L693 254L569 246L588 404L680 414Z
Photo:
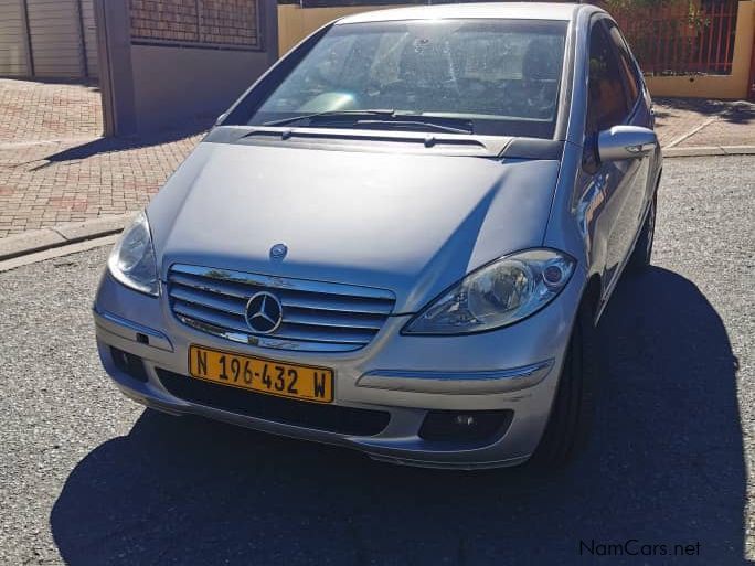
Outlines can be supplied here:
M0 261L117 234L131 222L135 215L136 213L103 216L96 220L72 222L0 238Z

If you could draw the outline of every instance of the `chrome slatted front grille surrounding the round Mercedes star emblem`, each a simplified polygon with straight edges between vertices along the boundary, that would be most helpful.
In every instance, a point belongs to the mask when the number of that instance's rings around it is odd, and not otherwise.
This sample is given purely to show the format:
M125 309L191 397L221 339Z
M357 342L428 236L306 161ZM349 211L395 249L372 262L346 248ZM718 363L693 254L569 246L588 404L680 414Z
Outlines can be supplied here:
M246 323L246 303L259 291L283 305L283 322L270 334L255 333ZM170 268L168 295L176 317L192 328L235 342L311 352L363 348L395 302L383 289L189 265Z

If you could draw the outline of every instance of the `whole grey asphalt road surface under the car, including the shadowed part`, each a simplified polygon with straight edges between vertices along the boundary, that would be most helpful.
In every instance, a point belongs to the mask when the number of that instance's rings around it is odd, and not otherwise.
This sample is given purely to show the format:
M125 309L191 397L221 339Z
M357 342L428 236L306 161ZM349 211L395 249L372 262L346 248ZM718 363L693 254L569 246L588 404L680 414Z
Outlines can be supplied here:
M0 274L0 564L745 563L755 157L667 161L659 206L655 265L603 322L596 434L549 476L398 468L146 412L95 352L106 249ZM631 540L699 554L597 556Z

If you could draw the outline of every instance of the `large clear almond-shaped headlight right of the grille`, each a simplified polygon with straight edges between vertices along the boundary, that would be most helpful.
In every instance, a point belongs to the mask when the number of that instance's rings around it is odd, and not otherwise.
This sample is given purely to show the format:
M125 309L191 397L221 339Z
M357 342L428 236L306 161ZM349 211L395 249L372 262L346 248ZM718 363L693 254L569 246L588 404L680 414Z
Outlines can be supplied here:
M552 301L575 261L553 249L529 249L488 264L433 300L405 334L466 334L513 324Z

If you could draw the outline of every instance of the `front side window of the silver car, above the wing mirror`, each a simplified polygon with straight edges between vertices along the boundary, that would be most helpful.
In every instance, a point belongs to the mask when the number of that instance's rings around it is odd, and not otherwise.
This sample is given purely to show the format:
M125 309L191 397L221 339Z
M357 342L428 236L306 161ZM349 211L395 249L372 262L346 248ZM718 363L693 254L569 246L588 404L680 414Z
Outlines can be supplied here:
M589 34L588 134L621 124L628 114L615 53L600 22L594 23Z

